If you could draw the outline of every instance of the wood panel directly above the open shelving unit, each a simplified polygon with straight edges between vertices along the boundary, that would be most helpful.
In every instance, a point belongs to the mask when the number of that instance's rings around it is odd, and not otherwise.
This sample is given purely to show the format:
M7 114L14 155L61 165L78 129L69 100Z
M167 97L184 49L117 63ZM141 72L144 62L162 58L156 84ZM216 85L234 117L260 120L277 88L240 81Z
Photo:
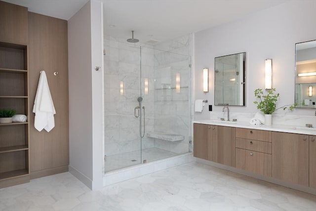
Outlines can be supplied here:
M0 41L28 43L28 8L0 1Z

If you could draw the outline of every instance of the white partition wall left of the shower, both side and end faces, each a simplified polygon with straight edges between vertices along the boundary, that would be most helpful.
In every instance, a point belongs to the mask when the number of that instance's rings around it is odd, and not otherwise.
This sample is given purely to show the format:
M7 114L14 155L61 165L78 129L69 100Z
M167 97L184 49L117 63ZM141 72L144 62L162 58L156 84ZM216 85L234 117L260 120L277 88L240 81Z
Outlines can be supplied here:
M102 186L102 73L94 70L102 66L100 4L87 2L68 21L69 171L91 189Z

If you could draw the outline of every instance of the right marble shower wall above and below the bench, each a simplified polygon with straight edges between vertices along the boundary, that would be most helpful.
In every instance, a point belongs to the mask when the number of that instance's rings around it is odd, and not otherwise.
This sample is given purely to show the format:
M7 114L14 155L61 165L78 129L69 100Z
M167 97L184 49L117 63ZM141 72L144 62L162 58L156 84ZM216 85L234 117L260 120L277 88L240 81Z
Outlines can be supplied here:
M155 147L179 154L189 151L191 140L191 44L187 35L154 46L155 132L185 136L175 142L156 138Z

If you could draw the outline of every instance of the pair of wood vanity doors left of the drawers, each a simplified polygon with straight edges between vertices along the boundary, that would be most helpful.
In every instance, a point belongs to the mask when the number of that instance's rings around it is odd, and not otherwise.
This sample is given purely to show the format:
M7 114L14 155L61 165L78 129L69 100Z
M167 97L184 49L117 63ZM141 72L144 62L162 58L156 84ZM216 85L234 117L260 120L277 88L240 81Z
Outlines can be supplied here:
M235 127L194 124L194 157L235 167Z

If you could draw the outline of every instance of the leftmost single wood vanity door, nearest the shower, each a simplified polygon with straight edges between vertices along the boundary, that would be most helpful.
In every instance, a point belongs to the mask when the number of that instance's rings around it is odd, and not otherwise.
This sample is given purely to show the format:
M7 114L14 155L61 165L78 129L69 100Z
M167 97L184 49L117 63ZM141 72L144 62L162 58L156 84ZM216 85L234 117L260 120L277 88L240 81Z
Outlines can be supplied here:
M193 155L196 158L212 160L212 133L213 126L195 123L193 126L194 147Z

